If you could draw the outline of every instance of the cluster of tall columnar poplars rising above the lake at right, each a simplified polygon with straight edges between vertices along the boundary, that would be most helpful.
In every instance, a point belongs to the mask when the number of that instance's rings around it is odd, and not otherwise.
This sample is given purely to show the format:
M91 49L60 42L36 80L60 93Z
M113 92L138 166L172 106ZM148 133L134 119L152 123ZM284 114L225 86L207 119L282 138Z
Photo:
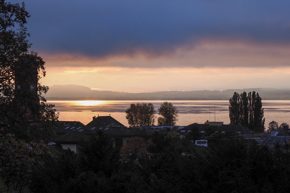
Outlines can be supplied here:
M239 124L258 132L264 132L264 109L262 99L253 91L234 93L229 99L229 118L231 124Z

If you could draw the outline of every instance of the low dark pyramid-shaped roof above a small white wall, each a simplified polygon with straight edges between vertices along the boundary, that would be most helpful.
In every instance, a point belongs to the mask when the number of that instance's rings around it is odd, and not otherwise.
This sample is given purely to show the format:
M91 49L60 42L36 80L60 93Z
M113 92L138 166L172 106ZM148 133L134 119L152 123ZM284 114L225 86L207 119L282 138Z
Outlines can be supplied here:
M55 143L79 143L88 141L90 141L90 139L81 132L78 132L77 130L72 130L71 132L56 137L52 140L52 142Z

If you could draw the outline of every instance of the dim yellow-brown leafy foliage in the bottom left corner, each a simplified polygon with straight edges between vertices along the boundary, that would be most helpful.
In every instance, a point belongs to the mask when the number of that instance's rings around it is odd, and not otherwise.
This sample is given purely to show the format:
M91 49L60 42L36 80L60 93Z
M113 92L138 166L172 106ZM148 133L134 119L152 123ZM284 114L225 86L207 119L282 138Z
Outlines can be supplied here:
M28 185L32 168L41 164L44 148L42 143L26 144L9 136L0 137L0 176L8 190L21 192Z

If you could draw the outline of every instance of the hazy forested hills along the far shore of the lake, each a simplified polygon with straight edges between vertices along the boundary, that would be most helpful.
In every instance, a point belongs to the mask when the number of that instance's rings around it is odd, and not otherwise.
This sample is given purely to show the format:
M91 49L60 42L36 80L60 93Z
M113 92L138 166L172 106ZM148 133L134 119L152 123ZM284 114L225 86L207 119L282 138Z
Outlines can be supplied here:
M79 85L53 85L46 94L47 100L229 100L234 92L256 91L262 100L290 100L290 89L250 88L224 91L159 91L127 93L97 91Z

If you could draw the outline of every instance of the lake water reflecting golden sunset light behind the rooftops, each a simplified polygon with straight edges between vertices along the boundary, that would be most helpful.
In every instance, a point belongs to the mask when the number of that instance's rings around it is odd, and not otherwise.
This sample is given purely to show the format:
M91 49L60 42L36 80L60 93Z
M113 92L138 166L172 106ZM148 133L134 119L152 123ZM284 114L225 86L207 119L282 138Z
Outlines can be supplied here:
M126 126L128 126L128 122L125 111L130 104L138 102L151 102L155 107L156 117L158 117L158 108L164 101L47 101L49 104L55 104L60 121L80 121L86 125L93 120L93 116L111 115ZM168 102L176 106L179 111L177 125L187 126L195 122L203 124L206 120L230 123L228 100L174 100ZM283 122L290 123L290 100L266 100L262 103L266 129L269 122L273 120L279 125ZM157 124L157 118L155 124Z

